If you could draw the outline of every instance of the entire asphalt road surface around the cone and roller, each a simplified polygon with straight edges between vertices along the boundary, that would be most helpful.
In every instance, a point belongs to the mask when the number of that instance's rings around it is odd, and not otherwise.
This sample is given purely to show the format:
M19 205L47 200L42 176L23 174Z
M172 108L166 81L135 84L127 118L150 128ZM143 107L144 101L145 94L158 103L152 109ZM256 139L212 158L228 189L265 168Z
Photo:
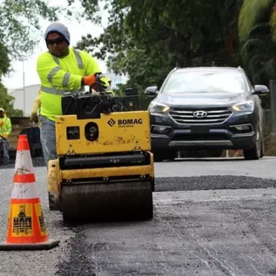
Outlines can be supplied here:
M151 221L65 226L48 210L46 168L35 168L49 251L0 252L10 275L276 275L275 157L155 164ZM0 170L0 242L13 168Z

